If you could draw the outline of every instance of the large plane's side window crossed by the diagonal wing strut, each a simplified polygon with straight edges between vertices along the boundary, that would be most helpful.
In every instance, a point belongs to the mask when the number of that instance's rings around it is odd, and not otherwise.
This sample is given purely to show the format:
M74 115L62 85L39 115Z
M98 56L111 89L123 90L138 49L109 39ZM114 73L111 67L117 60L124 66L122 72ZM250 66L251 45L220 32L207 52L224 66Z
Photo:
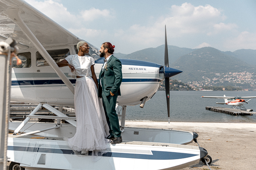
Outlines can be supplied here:
M48 54L52 57L54 62L58 63L64 60L67 56L70 55L69 49L61 49L61 50L48 50ZM49 64L45 61L43 56L37 51L37 66L49 66Z

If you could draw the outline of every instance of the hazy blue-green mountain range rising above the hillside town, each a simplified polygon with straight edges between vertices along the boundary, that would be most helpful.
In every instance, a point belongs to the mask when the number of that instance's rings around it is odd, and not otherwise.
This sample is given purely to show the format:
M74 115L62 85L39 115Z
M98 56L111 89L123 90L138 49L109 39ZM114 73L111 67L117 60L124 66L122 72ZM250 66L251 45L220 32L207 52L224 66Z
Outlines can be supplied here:
M164 64L165 46L146 48L131 54L114 54L117 58L135 59ZM168 46L169 66L183 71L174 79L182 82L202 81L205 77L229 72L255 72L256 50L220 51L212 47L199 49ZM204 78L203 78L204 76Z

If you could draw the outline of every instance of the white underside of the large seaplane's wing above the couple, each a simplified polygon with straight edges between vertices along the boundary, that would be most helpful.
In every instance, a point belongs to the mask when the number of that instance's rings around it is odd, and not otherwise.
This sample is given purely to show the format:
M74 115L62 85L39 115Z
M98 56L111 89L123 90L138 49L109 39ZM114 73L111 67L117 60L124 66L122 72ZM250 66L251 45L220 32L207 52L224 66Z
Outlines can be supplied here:
M12 37L17 40L19 48L34 47L27 36L15 24L20 15L24 23L44 47L74 44L82 41L59 24L23 0L0 0L0 39ZM88 43L89 44L89 43Z

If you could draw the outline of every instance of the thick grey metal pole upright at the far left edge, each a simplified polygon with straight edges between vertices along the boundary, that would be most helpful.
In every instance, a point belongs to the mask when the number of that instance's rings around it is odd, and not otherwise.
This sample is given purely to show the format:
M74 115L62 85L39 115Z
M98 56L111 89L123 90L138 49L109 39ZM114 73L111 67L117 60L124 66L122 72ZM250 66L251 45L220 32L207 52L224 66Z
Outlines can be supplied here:
M10 45L0 43L0 169L6 170L8 120L10 111Z

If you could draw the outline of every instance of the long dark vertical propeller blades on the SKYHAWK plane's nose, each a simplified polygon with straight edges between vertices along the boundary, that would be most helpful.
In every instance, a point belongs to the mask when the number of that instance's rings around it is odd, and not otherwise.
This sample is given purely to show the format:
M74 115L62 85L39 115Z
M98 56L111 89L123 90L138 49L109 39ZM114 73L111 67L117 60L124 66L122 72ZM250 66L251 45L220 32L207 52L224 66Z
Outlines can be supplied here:
M167 47L167 36L166 36L166 25L165 25L165 68L169 67L169 59L168 59L168 47ZM165 77L165 95L167 102L167 114L168 114L168 122L170 123L170 78Z

